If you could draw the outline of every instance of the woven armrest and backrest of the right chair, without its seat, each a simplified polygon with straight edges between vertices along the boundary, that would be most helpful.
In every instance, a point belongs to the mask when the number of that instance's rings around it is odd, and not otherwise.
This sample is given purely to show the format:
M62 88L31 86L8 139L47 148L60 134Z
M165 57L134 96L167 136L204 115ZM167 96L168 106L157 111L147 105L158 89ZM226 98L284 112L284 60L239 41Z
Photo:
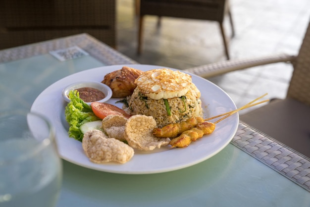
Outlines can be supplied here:
M235 59L216 62L186 69L184 71L202 76L204 78L221 75L227 72L246 69L254 66L276 63L291 62L294 72L287 92L287 97L310 105L310 23L306 31L303 43L297 56L288 54L275 54L265 57L248 59Z

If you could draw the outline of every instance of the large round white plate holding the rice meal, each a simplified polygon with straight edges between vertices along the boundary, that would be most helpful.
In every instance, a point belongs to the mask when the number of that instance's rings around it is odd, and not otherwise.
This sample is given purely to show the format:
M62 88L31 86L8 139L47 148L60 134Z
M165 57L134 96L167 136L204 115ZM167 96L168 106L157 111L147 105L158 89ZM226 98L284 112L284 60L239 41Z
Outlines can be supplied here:
M219 122L212 134L205 135L202 139L191 143L187 148L170 149L167 146L148 153L135 152L132 159L124 164L96 164L91 162L84 154L81 142L68 136L68 124L64 119L64 108L67 103L62 99L61 92L64 87L77 81L102 81L106 73L121 69L122 66L104 66L69 75L44 90L33 103L31 110L45 114L56 128L56 142L59 155L63 159L105 172L123 174L159 173L185 168L202 162L220 152L232 140L239 123L237 113ZM142 64L127 66L143 71L163 68L162 66ZM205 117L236 109L236 105L231 98L218 86L195 75L192 75L192 80L201 91ZM121 107L122 104L115 104L118 100L110 99L107 103Z

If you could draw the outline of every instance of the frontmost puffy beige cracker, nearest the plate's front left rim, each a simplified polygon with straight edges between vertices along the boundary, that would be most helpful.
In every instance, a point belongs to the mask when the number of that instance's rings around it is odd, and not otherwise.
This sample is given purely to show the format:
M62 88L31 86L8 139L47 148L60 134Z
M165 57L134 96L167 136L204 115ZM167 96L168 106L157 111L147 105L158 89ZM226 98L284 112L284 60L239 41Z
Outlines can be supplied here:
M134 155L134 150L130 146L114 138L107 138L97 129L84 134L82 147L89 159L95 163L109 161L125 163Z

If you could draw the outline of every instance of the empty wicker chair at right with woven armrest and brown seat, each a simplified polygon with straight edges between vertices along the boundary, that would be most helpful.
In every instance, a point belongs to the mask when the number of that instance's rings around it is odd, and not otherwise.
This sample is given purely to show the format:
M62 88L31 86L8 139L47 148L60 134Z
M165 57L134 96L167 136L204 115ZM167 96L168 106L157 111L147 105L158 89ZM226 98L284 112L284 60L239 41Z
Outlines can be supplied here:
M207 78L276 62L291 62L294 66L287 97L243 114L240 120L310 157L310 24L297 56L281 54L229 60L185 71Z

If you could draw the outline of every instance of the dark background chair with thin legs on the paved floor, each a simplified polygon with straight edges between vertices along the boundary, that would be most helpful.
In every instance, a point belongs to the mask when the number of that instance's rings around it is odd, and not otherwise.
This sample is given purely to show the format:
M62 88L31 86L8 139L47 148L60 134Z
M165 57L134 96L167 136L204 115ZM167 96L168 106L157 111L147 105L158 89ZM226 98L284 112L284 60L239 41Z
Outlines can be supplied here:
M139 1L140 5L137 5ZM159 17L169 16L217 21L221 29L225 54L227 59L229 59L228 46L223 27L223 20L226 13L228 13L230 17L232 37L235 33L228 0L136 0L136 9L139 9L140 13L138 53L141 53L142 51L144 16L156 15Z

